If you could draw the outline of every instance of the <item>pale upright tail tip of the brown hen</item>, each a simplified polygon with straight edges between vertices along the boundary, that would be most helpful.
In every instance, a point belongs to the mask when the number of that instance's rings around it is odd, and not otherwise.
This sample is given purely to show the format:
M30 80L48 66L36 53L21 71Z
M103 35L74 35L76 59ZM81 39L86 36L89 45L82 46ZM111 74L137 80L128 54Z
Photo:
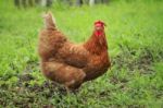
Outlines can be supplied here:
M52 13L51 12L47 12L45 15L43 15L43 19L45 19L45 27L47 29L55 29L55 19L53 17Z

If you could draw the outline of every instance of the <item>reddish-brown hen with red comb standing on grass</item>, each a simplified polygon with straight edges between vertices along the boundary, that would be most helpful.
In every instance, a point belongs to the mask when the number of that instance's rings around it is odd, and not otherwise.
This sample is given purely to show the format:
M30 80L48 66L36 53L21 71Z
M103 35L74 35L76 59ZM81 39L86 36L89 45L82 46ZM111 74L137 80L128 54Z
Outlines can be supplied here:
M43 19L45 28L39 34L38 53L41 71L47 79L73 91L108 71L111 62L103 22L97 21L91 37L76 45L57 28L51 12Z

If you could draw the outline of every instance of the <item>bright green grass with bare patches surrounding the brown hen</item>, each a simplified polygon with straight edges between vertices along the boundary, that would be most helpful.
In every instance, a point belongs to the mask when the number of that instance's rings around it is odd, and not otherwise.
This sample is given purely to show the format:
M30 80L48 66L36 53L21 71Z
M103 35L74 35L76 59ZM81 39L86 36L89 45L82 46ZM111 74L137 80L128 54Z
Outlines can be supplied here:
M0 1L0 107L162 108L163 2L115 1L109 5L16 9ZM10 7L9 7L10 5ZM89 38L96 20L106 23L112 68L77 94L47 82L39 69L41 14L51 10L59 28L75 41Z

